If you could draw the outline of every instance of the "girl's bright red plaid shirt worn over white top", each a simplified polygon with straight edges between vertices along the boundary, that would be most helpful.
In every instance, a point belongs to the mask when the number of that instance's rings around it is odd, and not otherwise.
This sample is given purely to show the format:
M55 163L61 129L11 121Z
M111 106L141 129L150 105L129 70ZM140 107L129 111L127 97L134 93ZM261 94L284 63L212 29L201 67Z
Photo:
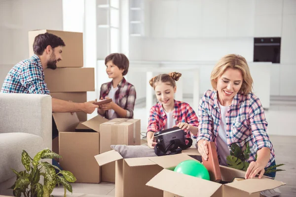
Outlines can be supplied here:
M174 107L174 113L173 113L173 118L176 120L176 124L181 122L188 123L191 126L198 127L198 120L197 116L192 109L192 107L186 103L186 102L181 102L178 100L175 101L175 107ZM162 107L161 103L155 104L153 107L150 109L149 113L149 119L148 119L148 131L161 131L164 130L165 124L167 122L167 116L166 113ZM193 138L196 138L196 135L193 135L191 132L186 131L186 138L190 138L191 136Z

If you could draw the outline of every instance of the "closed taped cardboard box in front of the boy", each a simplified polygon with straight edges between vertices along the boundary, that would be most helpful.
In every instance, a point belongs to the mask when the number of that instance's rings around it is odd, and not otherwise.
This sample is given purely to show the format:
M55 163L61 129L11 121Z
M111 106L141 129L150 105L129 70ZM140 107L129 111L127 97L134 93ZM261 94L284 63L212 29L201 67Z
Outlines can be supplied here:
M100 154L111 145L140 145L141 120L115 118L100 126ZM102 181L115 182L115 162L102 166Z

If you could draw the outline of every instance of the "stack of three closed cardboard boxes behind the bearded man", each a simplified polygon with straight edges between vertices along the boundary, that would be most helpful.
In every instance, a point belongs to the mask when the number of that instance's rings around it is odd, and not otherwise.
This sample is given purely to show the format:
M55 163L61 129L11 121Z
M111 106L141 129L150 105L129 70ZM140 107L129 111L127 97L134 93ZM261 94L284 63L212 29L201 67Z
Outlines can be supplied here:
M95 91L94 68L83 67L83 36L82 33L52 30L37 30L29 32L29 55L34 55L33 43L35 37L42 33L52 33L62 38L65 43L62 61L57 62L57 69L45 69L45 83L50 95L55 99L73 102L86 102L86 92ZM87 120L87 114L78 112L80 121ZM52 149L59 153L59 137L52 141Z

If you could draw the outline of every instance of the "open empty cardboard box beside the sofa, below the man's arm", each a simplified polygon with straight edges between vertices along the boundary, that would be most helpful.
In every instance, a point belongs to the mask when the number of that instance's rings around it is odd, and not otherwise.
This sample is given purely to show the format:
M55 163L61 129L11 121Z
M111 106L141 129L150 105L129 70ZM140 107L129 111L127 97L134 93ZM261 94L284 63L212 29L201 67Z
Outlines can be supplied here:
M53 113L53 117L59 131L61 167L74 174L76 183L100 183L101 170L94 156L100 153L100 124L108 120L96 116L81 123L76 113ZM92 132L75 131L79 124L85 123Z

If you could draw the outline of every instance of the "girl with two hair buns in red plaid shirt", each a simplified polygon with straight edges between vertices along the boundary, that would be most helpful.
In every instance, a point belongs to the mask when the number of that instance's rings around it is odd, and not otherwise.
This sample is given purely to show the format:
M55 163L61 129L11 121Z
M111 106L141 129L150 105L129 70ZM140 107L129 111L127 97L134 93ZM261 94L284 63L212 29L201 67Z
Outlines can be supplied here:
M154 148L154 132L179 127L191 137L196 138L198 132L198 121L194 110L188 103L174 99L176 93L176 82L181 77L181 73L170 72L169 74L159 74L149 83L154 88L158 103L150 109L147 142L150 148Z

